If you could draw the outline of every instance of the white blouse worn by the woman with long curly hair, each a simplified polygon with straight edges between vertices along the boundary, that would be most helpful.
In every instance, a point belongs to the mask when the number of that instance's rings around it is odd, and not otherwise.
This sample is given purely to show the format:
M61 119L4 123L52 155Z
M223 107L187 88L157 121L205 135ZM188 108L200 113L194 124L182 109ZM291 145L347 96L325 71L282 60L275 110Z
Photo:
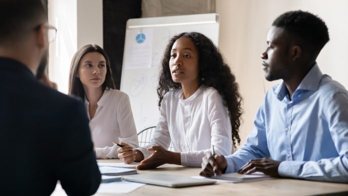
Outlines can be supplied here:
M234 151L228 110L215 88L200 86L186 99L181 88L168 91L159 110L151 143L137 148L144 158L150 155L147 147L161 145L167 149L170 141L174 151L180 152L181 164L186 166L201 166L211 144L215 153L229 155Z

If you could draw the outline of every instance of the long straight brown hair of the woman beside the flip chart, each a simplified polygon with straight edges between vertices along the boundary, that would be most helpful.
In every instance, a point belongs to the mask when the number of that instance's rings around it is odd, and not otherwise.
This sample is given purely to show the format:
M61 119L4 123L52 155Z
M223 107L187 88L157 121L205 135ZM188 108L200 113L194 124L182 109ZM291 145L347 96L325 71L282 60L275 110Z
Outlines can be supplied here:
M81 97L84 99L84 89L81 83L81 80L76 76L78 65L80 63L81 58L84 54L88 52L98 52L104 56L106 61L106 75L105 81L102 83L102 90L105 90L106 87L115 89L115 85L112 79L112 72L110 67L110 61L106 54L106 52L97 44L87 44L79 48L76 53L73 55L70 65L69 72L69 89L68 93Z

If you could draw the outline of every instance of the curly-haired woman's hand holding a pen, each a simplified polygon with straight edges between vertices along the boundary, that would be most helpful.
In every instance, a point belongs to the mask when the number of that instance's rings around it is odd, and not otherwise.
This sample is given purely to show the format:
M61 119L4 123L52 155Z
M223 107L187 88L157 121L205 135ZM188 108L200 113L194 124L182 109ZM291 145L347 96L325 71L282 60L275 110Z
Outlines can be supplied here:
M133 146L130 146L129 144L122 141L119 144L124 145L124 147L117 149L117 156L120 160L122 160L122 162L129 164L131 162L138 162L144 159L142 152L137 149L134 150Z

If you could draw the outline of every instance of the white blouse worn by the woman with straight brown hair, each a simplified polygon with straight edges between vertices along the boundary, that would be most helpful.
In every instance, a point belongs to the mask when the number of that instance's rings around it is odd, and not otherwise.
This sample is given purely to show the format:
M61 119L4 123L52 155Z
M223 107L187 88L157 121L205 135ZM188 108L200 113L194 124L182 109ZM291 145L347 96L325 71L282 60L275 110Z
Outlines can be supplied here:
M88 105L89 102L85 99L89 118ZM96 158L117 158L118 146L112 142L123 141L138 147L128 95L115 89L104 90L97 105L95 114L89 121Z

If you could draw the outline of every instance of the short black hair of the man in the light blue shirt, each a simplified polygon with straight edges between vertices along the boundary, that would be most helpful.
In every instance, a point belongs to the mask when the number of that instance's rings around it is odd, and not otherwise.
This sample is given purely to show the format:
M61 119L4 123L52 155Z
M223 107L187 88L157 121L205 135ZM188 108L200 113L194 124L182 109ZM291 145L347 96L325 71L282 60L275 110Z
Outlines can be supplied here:
M307 11L287 11L279 15L273 21L272 26L284 28L317 53L330 39L325 22L317 15Z

